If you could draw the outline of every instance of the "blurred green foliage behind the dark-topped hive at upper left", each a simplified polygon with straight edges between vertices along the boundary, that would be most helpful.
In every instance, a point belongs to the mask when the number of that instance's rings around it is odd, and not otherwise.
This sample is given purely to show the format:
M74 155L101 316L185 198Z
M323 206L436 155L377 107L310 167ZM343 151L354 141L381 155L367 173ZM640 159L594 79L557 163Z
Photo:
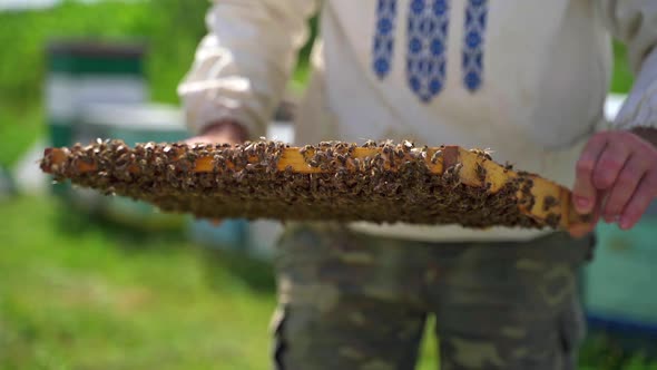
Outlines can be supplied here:
M67 0L49 10L0 12L0 105L30 108L40 103L43 50L49 40L59 38L144 40L154 98L175 101L175 86L206 33L208 7L207 0ZM315 30L316 21L313 25ZM303 60L308 51L310 45L302 51Z

